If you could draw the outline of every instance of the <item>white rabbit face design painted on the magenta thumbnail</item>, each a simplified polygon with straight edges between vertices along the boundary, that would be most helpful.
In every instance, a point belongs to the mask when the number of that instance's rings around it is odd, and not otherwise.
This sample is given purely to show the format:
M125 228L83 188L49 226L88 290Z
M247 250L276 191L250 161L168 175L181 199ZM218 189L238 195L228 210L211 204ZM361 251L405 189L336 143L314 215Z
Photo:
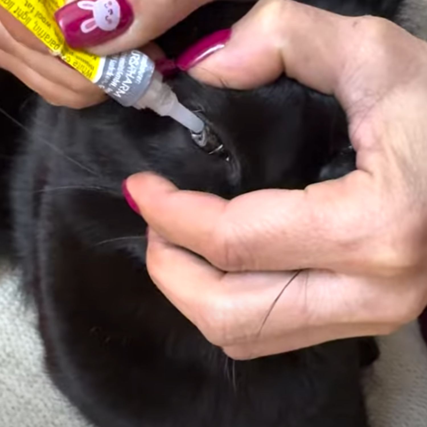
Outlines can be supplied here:
M117 0L82 0L77 2L80 9L91 10L93 18L84 20L80 29L84 33L100 28L104 31L113 31L120 22L120 5Z

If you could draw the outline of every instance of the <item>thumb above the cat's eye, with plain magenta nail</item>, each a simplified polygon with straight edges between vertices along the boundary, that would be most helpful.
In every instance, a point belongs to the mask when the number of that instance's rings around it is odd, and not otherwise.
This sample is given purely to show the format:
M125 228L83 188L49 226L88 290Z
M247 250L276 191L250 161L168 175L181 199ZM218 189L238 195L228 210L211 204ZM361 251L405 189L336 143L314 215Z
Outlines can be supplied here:
M349 31L348 20L291 0L260 0L233 26L225 47L190 74L208 84L248 89L285 72L331 93L342 68L342 50L351 49L342 41L352 38L340 35Z

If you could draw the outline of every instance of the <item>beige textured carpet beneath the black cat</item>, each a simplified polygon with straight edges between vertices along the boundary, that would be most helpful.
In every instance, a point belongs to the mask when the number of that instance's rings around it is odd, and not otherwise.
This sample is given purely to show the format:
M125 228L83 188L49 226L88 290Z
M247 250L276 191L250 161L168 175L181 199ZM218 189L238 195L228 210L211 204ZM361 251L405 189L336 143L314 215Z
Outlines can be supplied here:
M18 275L3 266L0 276L0 427L89 427L44 374L35 314L20 302ZM427 348L417 325L380 346L366 373L372 427L427 427Z

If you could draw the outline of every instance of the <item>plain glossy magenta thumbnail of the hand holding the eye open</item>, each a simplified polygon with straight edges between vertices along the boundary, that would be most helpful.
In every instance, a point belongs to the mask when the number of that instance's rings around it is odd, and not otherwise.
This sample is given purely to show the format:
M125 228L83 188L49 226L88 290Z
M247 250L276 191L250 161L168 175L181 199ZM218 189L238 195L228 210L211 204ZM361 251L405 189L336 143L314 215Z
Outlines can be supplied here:
M187 71L212 53L222 49L231 37L231 29L222 29L199 40L189 47L176 61L176 66Z

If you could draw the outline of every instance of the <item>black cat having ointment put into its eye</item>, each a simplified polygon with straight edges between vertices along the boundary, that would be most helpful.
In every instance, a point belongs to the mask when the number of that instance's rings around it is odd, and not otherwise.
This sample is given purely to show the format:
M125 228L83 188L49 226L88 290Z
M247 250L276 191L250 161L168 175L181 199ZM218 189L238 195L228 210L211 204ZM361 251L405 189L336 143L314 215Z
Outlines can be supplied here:
M310 3L395 19L401 2ZM212 3L158 42L175 56L249 7ZM172 120L114 101L83 111L40 101L32 112L12 202L24 287L38 309L51 378L100 427L367 426L360 366L375 357L372 341L228 359L152 284L146 225L120 191L141 170L226 198L342 175L354 167L345 115L334 99L285 77L248 92L184 74L170 84L205 117L226 154L209 155Z

